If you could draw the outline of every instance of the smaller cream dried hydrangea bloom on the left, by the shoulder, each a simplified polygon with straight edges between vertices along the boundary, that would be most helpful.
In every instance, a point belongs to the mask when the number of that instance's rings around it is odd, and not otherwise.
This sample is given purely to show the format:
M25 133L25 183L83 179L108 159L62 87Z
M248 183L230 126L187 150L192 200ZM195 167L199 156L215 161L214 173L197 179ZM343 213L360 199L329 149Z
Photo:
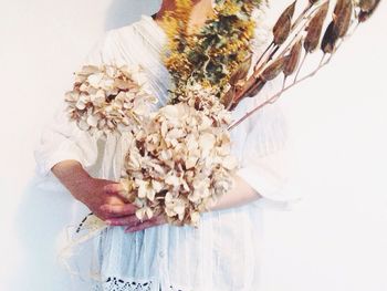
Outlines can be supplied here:
M69 116L92 134L129 132L157 103L145 85L140 67L85 65L65 94Z

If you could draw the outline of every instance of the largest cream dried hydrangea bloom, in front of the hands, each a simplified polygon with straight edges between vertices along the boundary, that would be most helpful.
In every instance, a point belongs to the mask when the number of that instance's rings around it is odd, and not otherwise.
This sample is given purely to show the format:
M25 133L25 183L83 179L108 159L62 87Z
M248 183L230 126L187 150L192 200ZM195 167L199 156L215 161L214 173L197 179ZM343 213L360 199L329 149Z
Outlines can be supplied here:
M139 219L157 212L169 224L197 226L200 212L231 189L230 113L210 93L192 89L134 132L122 185Z

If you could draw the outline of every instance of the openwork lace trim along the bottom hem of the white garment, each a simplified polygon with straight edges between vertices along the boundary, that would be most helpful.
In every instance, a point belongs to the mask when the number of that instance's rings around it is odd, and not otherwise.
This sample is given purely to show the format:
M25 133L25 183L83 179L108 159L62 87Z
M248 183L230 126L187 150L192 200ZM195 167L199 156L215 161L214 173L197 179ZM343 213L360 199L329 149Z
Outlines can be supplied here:
M98 285L95 285L93 291L151 291L154 285L153 281L147 282L136 282L136 281L124 281L122 279L109 277L105 282ZM168 287L167 290L159 291L184 291L181 289L176 289L172 285Z

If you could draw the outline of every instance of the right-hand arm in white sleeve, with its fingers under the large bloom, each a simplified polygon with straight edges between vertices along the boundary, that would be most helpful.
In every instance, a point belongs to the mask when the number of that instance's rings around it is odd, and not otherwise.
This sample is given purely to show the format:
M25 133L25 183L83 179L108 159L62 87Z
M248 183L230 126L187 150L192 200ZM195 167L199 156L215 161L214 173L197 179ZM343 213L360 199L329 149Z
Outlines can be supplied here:
M234 187L210 206L209 211L240 207L263 198L281 205L293 200L283 190L289 175L289 154L285 150L284 124L278 114L275 105L271 105L251 123L252 129L244 141L243 158L234 177ZM109 191L119 193L119 185L109 186ZM119 216L119 209L116 215ZM165 220L155 217L140 222L133 216L109 219L109 222L125 226L132 232L165 224Z

